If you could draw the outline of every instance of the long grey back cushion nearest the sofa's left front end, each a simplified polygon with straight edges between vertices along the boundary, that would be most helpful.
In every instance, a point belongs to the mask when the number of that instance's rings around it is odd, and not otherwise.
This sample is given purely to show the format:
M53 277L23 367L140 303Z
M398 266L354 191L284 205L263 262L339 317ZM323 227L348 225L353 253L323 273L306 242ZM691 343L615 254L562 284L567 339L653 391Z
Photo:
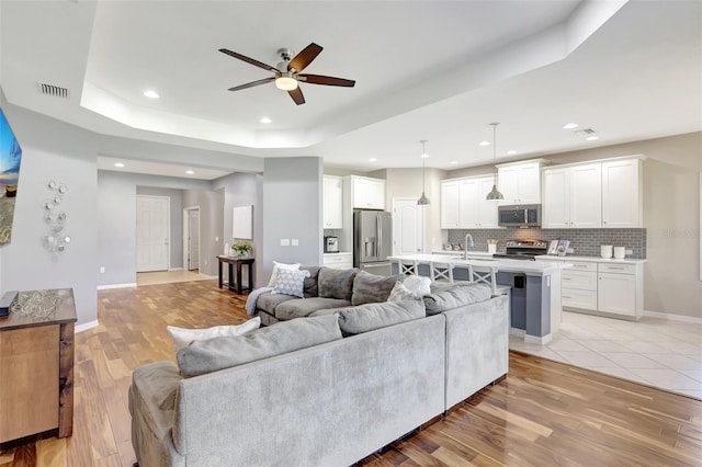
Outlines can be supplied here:
M338 339L341 330L333 315L294 319L245 335L193 342L178 352L178 366L183 376L199 376Z

